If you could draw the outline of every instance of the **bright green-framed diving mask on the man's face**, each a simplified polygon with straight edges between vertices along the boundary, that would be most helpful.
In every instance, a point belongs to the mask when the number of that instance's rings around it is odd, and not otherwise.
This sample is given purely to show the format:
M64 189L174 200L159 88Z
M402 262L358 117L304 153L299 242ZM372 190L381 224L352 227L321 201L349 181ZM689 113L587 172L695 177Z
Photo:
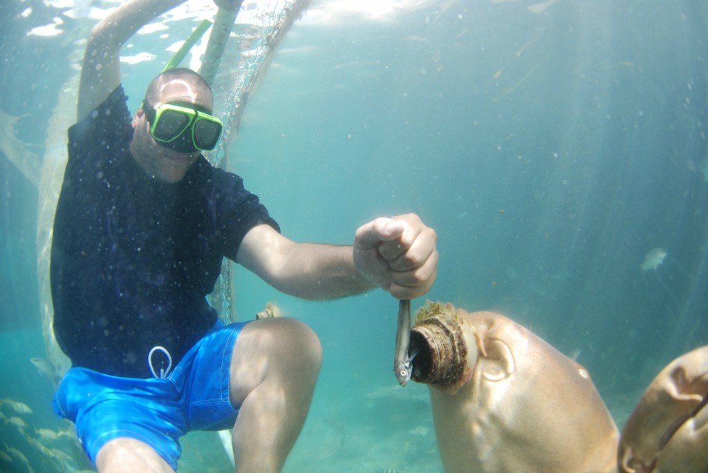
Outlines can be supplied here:
M214 149L223 129L218 118L189 103L168 102L154 108L144 100L142 110L153 139L180 153Z

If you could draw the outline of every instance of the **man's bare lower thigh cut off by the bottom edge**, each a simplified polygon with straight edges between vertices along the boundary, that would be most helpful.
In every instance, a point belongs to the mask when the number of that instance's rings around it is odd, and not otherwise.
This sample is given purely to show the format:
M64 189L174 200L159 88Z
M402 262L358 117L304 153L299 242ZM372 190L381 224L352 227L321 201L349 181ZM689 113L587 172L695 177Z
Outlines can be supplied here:
M114 438L98 450L98 473L174 473L152 447L135 438Z

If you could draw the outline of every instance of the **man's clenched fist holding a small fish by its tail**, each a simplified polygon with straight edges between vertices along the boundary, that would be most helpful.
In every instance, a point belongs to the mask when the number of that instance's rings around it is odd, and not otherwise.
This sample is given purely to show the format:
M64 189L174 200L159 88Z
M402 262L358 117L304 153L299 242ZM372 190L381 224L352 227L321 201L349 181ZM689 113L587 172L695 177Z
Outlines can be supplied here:
M435 230L415 214L377 218L354 237L354 266L397 299L427 293L438 274Z

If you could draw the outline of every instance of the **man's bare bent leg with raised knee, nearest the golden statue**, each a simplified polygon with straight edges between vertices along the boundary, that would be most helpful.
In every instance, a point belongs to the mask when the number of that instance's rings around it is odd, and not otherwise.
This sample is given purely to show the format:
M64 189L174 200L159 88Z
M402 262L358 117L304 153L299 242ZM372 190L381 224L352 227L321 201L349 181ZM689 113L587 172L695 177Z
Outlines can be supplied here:
M280 472L302 430L322 363L312 329L295 319L255 320L239 334L229 397L239 473Z

